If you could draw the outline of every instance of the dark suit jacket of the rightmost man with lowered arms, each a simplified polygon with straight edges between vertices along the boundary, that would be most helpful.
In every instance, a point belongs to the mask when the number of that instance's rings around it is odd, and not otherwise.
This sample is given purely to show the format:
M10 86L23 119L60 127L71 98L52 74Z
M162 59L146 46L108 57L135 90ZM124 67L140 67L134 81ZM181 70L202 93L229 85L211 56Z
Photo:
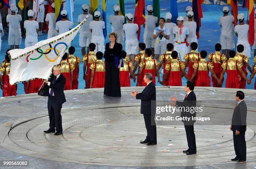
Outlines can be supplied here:
M246 131L246 116L247 116L247 106L246 102L241 101L234 109L232 116L232 130L238 130L239 132Z

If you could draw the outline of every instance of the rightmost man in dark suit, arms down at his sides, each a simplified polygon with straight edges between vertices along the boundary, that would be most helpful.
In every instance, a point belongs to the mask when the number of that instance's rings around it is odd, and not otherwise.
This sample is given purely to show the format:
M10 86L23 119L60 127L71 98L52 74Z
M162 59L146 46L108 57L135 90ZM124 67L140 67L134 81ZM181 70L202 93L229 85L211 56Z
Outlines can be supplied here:
M244 93L242 91L236 92L236 106L233 112L232 124L230 130L233 131L234 148L236 157L231 161L237 161L239 163L246 162L246 116L247 106L244 102Z

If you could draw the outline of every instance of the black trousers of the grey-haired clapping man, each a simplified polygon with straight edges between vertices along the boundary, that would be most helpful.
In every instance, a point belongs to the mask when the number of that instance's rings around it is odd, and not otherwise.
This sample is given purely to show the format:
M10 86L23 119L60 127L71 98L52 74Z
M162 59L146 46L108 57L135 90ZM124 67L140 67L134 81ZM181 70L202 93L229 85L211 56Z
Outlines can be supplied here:
M156 142L156 125L151 125L151 115L143 114L146 129L147 129L147 137L146 140L157 143Z

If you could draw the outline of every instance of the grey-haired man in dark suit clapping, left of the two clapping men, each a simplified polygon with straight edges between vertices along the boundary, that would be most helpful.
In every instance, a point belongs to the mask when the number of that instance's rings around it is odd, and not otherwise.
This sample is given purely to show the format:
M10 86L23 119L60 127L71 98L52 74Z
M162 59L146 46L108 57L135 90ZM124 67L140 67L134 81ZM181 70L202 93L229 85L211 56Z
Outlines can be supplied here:
M131 95L136 99L141 99L141 114L143 114L147 137L141 144L147 143L148 146L155 145L156 142L156 87L152 81L153 77L151 73L146 73L144 76L144 82L147 86L141 93L132 92Z

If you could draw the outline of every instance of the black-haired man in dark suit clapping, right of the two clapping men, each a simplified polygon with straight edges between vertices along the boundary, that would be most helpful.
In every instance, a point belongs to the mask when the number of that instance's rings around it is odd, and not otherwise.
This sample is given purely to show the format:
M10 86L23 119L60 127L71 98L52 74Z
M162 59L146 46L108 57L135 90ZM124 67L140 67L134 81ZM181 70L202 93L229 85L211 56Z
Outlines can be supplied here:
M194 93L194 88L195 85L193 82L187 81L187 84L185 85L185 92L187 92L184 101L183 102L178 102L175 97L171 97L173 103L171 103L172 106L177 106L179 108L182 107L196 107L197 106L197 97ZM195 140L195 133L194 133L194 123L195 123L195 118L196 113L192 112L181 112L181 117L184 119L182 122L184 123L186 135L187 135L187 145L188 149L184 150L183 152L186 153L187 155L191 154L197 154L197 147L196 147L196 140Z

